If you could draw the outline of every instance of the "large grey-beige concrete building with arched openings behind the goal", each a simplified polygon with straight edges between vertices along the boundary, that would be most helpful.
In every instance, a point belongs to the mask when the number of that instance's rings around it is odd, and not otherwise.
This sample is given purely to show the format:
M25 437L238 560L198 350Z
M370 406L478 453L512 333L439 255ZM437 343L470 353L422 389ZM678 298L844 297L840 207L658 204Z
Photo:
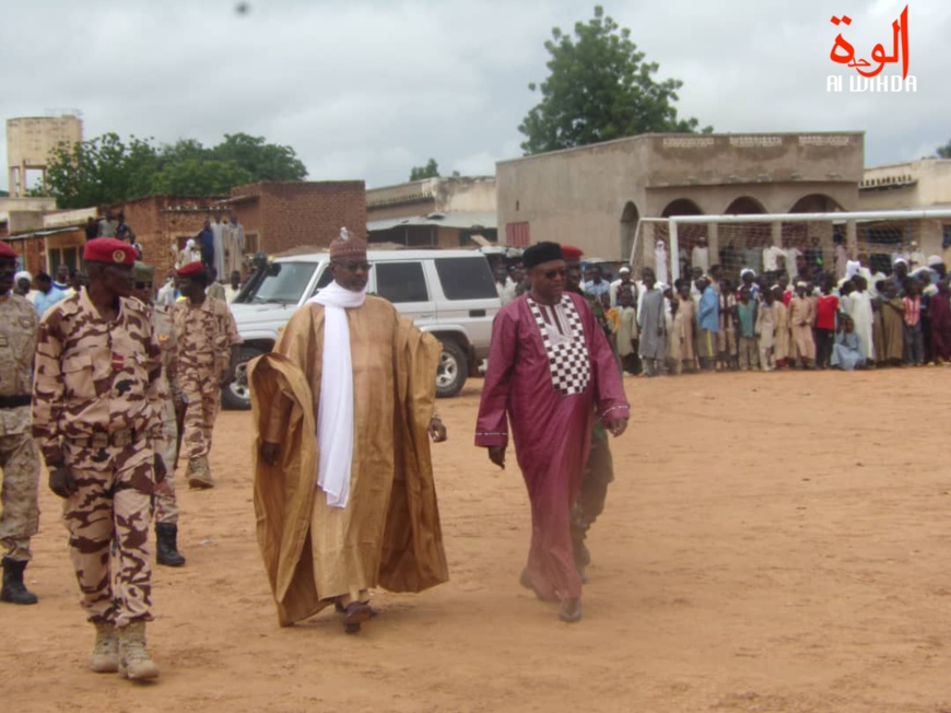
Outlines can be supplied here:
M496 164L498 225L508 245L551 239L626 260L646 217L856 210L862 162L861 132L631 137ZM714 261L740 233L759 247L821 243L831 259L831 225L690 227L680 247L704 237ZM653 247L639 241L635 264L651 264Z

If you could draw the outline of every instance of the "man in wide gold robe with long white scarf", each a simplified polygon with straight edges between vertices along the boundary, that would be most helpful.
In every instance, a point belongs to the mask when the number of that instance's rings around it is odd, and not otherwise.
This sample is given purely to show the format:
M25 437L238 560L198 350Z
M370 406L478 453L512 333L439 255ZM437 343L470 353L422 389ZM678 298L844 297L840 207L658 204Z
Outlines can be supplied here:
M333 282L249 369L255 507L281 626L336 604L355 633L371 588L448 578L428 445L446 429L436 339L366 295L364 242L341 232L330 260Z

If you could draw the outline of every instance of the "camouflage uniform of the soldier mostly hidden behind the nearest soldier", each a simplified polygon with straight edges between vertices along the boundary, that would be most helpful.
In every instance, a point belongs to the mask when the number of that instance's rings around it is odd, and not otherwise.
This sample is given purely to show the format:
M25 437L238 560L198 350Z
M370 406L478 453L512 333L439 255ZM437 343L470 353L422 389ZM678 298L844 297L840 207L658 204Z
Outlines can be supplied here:
M177 343L172 326L172 315L166 307L152 307L152 327L155 340L162 350L162 437L155 441L155 452L162 456L168 475L155 484L155 522L178 522L178 501L175 498L175 459L178 456L178 422L175 419L175 402L181 400L178 385Z

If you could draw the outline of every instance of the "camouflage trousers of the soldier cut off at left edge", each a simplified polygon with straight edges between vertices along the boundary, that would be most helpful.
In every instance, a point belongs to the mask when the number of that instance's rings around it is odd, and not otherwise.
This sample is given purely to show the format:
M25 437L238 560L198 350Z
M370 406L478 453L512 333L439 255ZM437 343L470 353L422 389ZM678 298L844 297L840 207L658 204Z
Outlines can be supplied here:
M30 433L0 435L0 547L3 556L28 562L30 538L39 530L39 455Z

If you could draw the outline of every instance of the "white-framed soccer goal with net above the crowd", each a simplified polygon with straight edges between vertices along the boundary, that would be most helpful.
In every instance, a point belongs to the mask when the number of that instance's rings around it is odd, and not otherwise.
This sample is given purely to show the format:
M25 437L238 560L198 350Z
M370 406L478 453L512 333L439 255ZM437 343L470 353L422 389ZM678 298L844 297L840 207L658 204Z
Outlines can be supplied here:
M888 274L897 257L914 269L949 245L951 209L673 215L641 219L630 261L635 276L650 267L667 283L712 265L731 280L744 268L795 276L801 260L841 276L845 260L856 258Z

